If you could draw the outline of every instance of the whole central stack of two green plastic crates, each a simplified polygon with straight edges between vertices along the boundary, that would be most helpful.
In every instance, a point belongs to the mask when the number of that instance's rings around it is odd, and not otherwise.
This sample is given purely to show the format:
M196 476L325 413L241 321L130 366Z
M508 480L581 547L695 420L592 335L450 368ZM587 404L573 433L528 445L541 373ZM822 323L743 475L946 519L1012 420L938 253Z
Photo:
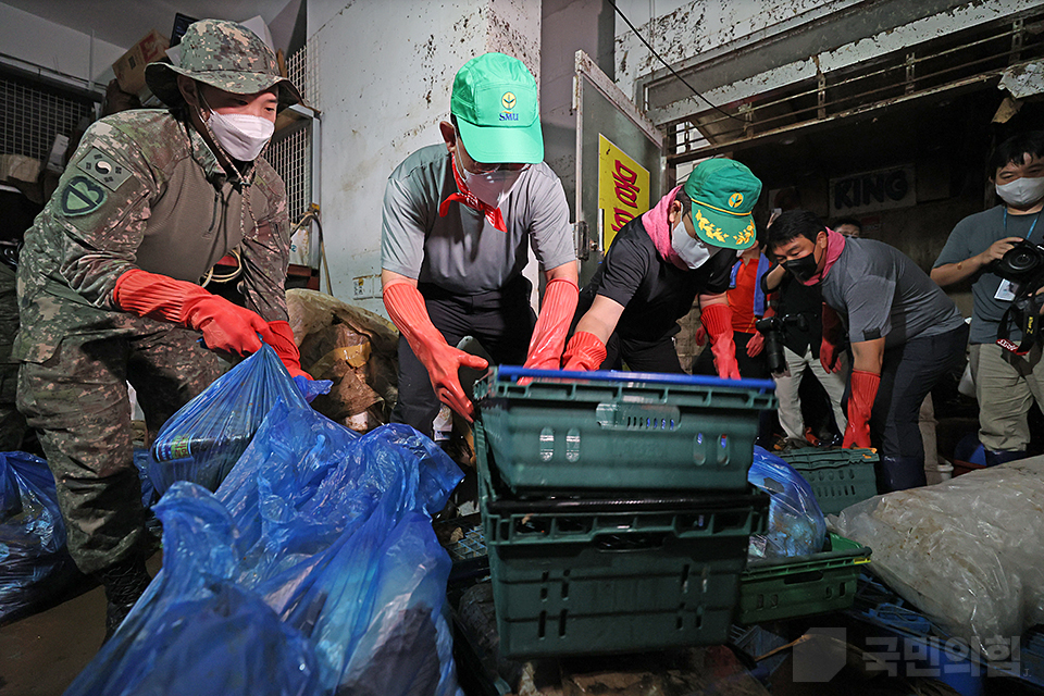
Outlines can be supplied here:
M749 535L767 381L501 366L475 385L502 657L723 643Z

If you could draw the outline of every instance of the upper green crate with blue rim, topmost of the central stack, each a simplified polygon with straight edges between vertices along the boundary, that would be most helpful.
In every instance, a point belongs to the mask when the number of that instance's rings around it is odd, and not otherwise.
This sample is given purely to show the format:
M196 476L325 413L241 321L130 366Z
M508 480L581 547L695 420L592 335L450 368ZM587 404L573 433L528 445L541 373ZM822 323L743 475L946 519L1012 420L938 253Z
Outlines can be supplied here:
M766 381L589 373L602 381L522 385L505 374L511 369L494 370L476 383L475 399L488 453L515 492L742 493L758 414L776 405Z

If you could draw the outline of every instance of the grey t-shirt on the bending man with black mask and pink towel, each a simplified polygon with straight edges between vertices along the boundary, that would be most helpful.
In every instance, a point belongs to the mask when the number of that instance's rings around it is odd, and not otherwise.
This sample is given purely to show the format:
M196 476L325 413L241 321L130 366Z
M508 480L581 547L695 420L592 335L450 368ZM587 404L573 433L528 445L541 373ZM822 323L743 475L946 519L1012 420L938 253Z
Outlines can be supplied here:
M849 341L883 336L886 348L944 334L965 321L909 257L875 239L845 240L823 278L823 301L846 316Z

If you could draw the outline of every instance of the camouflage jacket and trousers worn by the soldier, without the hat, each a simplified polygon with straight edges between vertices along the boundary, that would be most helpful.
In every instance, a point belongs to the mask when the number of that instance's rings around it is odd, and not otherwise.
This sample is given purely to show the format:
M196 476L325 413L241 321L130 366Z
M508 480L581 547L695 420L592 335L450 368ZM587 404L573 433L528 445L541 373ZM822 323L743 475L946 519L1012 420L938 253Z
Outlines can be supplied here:
M94 124L26 233L18 408L41 433L84 572L125 556L144 534L126 382L154 432L220 373L199 334L120 311L116 279L137 268L197 282L235 247L247 309L286 320L282 179L260 159L249 186L226 176L194 128L158 110Z

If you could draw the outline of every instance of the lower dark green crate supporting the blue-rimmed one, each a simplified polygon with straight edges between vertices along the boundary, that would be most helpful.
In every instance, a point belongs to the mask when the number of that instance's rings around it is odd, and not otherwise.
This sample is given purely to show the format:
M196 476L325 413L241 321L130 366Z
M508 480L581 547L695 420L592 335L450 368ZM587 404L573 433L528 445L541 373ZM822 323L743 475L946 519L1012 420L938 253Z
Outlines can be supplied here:
M517 500L480 480L501 657L728 639L767 496Z

